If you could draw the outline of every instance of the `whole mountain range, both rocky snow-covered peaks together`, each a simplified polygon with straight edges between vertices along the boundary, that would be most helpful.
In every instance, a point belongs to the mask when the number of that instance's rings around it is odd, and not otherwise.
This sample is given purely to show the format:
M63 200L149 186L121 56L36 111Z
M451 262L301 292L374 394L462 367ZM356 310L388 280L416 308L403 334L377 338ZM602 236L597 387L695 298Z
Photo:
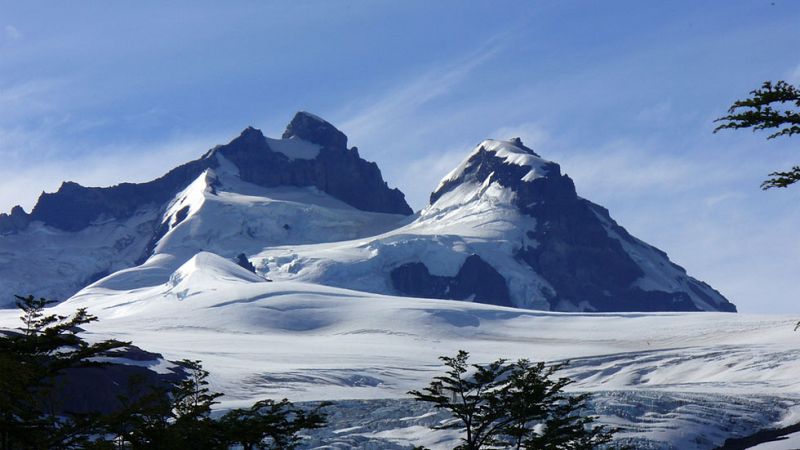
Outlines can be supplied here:
M736 311L518 138L479 143L414 213L344 133L307 112L280 139L248 127L153 181L65 182L30 213L0 214L0 305L179 283L187 264L216 258L253 280L394 296Z

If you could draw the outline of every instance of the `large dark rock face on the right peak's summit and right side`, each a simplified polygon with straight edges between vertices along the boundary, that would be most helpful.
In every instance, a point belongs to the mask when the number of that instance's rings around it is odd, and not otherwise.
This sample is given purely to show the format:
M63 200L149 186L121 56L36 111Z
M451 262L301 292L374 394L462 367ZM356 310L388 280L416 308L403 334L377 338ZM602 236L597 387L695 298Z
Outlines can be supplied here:
M536 155L521 142L517 146ZM694 294L719 311L736 311L718 292L669 263L664 252L632 237L605 208L578 197L572 180L561 174L558 164L545 165L543 177L522 181L529 170L527 166L508 164L481 148L457 179L431 194L431 203L465 180L483 182L490 175L493 182L512 189L516 193L515 206L536 218L537 223L536 229L527 233L537 244L523 246L515 256L553 287L555 292L542 292L551 309L560 309L559 304L566 301L574 305L585 302L597 311L697 311L690 296ZM635 282L645 273L610 233L630 246L644 246L661 255L672 268L682 272L691 292L636 287ZM712 298L706 293L709 290L718 297Z

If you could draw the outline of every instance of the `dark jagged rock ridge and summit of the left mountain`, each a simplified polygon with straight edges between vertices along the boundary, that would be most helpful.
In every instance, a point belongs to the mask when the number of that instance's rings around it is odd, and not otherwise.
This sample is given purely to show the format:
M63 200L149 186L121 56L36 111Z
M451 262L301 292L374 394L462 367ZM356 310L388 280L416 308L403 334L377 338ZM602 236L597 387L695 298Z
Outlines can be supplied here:
M284 132L318 144L313 160L292 160L270 149L261 131L248 127L227 145L217 146L202 158L179 166L147 183L122 183L111 187L84 187L65 182L54 193L42 193L30 215L21 208L0 214L0 234L24 229L30 221L64 231L80 231L101 218L124 219L146 205L163 205L194 181L204 170L218 167L217 153L231 160L244 181L264 187L315 186L345 203L365 211L411 214L405 196L390 189L378 166L347 149L347 136L330 123L309 113L297 113Z

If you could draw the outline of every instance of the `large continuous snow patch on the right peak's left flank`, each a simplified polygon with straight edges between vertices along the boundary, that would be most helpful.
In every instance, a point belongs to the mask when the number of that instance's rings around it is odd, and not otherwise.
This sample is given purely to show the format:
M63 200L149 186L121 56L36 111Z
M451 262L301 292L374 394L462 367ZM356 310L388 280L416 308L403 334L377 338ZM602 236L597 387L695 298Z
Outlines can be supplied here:
M513 192L497 183L463 183L384 234L269 247L251 259L274 280L392 294L389 274L401 264L422 262L434 275L454 276L468 256L479 254L506 279L517 305L548 309L541 295L548 283L514 257L520 245L532 242L525 232L536 220L521 215L512 199Z

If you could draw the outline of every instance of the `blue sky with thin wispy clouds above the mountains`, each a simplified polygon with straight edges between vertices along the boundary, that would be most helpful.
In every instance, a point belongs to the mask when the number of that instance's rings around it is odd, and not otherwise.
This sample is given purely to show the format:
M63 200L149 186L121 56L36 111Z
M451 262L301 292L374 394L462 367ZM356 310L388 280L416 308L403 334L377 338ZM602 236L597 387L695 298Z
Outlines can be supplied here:
M412 207L521 136L740 311L797 312L800 138L712 134L800 83L800 2L0 0L0 210L62 180L145 181L303 109Z

